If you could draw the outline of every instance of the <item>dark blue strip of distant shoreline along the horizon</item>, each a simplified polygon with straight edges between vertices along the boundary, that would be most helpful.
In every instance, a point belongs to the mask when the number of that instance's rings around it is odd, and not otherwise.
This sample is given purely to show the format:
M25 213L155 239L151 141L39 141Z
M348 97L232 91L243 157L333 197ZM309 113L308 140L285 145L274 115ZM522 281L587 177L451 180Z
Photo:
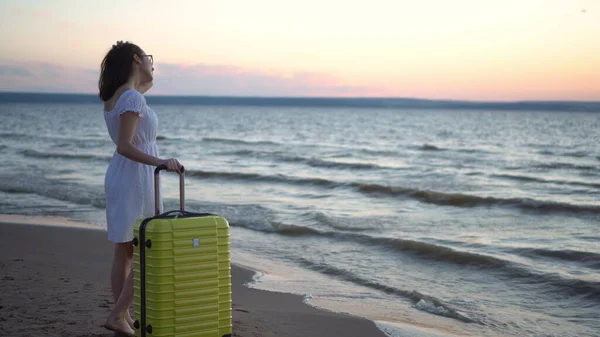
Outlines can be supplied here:
M149 104L600 112L600 101L464 101L385 97L263 97L147 95ZM99 104L95 94L0 92L0 103Z

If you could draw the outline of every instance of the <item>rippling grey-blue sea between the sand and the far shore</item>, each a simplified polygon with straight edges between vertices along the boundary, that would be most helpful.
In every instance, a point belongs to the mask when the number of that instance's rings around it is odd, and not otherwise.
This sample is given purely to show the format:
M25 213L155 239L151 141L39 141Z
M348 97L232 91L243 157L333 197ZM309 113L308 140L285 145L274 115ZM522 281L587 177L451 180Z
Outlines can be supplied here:
M147 100L249 287L391 337L600 336L600 104ZM0 213L105 227L97 97L5 93L0 119Z

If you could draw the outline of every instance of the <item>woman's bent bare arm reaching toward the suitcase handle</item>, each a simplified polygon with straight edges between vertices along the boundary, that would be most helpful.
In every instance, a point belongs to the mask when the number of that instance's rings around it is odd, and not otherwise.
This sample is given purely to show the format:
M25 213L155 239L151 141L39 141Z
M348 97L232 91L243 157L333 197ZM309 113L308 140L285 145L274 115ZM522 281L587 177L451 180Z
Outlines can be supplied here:
M159 166L163 164L163 160L150 156L143 151L140 151L133 145L133 136L137 127L139 116L135 112L125 112L121 115L121 125L119 127L119 141L117 144L117 152L138 163Z

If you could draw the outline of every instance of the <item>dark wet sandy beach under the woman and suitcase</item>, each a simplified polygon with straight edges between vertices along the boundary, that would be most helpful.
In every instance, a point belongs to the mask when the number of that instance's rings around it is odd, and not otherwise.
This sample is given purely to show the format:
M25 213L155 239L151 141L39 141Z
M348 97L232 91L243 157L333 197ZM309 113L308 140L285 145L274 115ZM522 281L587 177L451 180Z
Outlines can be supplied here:
M102 327L113 304L111 254L106 233L92 225L0 216L0 336L114 336ZM232 265L234 336L385 336L371 321L300 296L245 287L253 274Z

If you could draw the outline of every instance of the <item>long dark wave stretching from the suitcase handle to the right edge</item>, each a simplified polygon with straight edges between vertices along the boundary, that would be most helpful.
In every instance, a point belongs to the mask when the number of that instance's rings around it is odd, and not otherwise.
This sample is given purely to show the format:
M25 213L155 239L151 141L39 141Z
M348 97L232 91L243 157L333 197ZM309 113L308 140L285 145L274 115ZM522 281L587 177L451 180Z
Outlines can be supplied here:
M483 197L461 193L448 193L420 190L412 187L385 186L359 182L336 182L323 178L297 178L286 175L262 175L259 173L239 173L220 171L188 171L194 178L207 179L235 179L255 182L272 182L296 185L312 185L326 188L351 188L369 196L383 196L394 198L408 198L423 203L453 206L453 207L514 207L528 211L543 212L573 212L573 213L600 213L600 206L577 205L552 201L540 201L528 198L495 198Z

